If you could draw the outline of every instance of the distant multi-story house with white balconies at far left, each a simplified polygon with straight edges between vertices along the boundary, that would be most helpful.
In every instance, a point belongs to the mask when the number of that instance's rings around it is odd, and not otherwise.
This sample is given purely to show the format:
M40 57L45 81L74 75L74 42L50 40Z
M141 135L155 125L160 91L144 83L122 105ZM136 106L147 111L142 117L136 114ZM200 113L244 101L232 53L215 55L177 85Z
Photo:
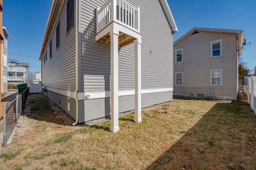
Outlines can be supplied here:
M8 59L8 83L28 83L28 63L20 63L14 59Z

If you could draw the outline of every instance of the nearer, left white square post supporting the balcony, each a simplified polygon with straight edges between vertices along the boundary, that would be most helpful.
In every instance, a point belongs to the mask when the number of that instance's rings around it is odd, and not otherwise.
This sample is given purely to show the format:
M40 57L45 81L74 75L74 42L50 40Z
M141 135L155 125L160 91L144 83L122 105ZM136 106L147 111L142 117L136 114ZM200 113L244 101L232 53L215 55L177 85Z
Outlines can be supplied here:
M111 10L112 11L112 10ZM111 16L112 17L112 16ZM115 31L115 30L114 30ZM118 126L118 33L110 33L110 131L119 131Z

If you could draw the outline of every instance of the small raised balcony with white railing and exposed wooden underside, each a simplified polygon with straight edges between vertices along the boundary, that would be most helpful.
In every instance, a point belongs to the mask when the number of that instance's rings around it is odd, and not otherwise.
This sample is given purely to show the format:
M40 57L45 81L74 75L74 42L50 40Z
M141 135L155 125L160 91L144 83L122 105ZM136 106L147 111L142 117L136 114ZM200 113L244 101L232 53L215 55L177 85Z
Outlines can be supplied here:
M113 8L116 7L116 8ZM97 34L96 41L110 44L111 28L108 26L115 23L112 27L119 29L118 47L122 48L130 45L138 39L140 33L140 8L134 7L124 0L108 0L101 8L97 9ZM112 17L116 16L116 17ZM106 30L105 30L106 29Z

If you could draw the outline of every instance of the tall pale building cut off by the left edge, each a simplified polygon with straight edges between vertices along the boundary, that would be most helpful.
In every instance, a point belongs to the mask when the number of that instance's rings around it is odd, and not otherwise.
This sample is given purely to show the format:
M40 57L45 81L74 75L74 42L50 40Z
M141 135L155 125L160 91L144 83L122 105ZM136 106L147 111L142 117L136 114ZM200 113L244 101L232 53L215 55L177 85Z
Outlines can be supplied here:
M8 59L8 38L10 37L6 27L3 27L3 36L4 36L4 43L2 44L2 66L1 66L1 70L2 70L2 74L1 74L1 94L5 94L7 93L8 89L7 89L7 59Z

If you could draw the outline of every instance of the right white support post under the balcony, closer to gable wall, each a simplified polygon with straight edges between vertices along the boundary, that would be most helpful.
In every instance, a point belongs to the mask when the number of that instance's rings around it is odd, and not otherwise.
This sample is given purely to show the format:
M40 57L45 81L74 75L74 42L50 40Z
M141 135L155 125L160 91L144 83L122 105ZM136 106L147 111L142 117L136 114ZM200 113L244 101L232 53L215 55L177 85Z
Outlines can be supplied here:
M134 121L140 123L141 119L141 40L134 40L135 47L135 117Z

